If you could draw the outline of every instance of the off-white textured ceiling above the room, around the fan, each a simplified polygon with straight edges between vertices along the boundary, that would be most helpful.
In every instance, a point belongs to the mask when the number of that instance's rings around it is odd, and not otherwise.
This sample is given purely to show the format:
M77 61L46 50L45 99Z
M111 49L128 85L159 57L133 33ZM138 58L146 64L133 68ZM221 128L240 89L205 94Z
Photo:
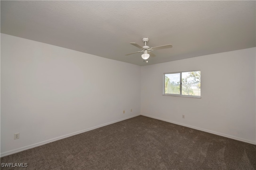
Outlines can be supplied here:
M256 47L255 1L2 1L1 33L137 65ZM154 51L143 62L130 45Z

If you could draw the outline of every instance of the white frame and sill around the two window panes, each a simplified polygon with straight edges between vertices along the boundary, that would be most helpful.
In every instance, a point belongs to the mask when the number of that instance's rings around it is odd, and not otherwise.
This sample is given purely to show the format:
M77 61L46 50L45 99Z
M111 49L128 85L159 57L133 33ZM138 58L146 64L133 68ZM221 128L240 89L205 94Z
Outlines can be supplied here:
M180 71L180 72L166 72L163 75L163 96L178 96L178 97L187 97L187 98L201 98L201 92L200 92L200 96L192 96L192 95L183 95L182 94L182 72L193 72L193 71L200 71L200 75L201 75L201 70L192 70L192 71ZM176 73L180 73L180 94L168 94L165 93L165 75L166 74L176 74ZM201 80L200 80L201 83ZM201 90L200 90L201 91Z

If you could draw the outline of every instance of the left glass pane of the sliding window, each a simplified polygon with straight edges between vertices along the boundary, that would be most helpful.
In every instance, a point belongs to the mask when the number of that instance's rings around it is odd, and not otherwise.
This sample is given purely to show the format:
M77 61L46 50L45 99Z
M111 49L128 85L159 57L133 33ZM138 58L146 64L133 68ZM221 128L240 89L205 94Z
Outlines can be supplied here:
M165 93L180 94L180 73L165 74Z

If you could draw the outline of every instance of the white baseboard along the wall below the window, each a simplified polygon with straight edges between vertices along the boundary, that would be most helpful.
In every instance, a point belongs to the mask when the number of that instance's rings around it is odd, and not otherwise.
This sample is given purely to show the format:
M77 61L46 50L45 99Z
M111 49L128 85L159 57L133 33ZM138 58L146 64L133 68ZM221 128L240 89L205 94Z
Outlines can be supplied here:
M218 133L218 132L210 131L210 130L207 130L207 129L202 129L200 127L194 127L194 126L186 125L186 124L183 124L183 123L178 123L178 122L175 122L175 121L170 121L170 120L167 120L167 119L162 119L162 118L159 118L159 117L154 117L154 116L145 115L145 114L140 114L140 115L146 116L146 117L151 117L153 119L158 119L158 120L166 121L166 122L169 122L169 123L174 123L176 125L190 127L192 129L196 129L196 130L199 130L199 131L204 131L204 132L212 133L214 135L219 135L219 136L227 137L227 138L234 139L234 140L237 140L237 141L242 141L242 142L246 142L246 143L250 143L250 144L256 145L256 142L254 142L254 141L248 141L246 139L242 139L242 138L239 138L239 137L234 137L234 136L231 136L231 135L226 135L226 134L223 134L223 133Z

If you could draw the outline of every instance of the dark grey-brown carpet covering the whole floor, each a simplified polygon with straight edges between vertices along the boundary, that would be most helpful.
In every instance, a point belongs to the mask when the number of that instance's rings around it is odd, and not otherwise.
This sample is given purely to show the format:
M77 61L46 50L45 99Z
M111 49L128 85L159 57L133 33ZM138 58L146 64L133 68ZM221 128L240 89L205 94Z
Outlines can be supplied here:
M256 145L137 116L1 158L26 170L253 170Z

